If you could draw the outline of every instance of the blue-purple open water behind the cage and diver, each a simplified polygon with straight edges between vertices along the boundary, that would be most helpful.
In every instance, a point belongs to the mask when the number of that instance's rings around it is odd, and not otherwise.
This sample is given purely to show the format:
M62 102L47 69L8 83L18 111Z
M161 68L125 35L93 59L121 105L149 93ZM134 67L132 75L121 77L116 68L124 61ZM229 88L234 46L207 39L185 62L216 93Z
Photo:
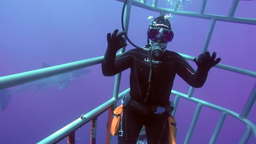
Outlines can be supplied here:
M200 2L193 0L184 10L197 12ZM232 2L208 0L205 13L227 15ZM122 2L114 0L0 1L0 76L41 69L42 63L55 66L104 55L107 33L122 29L122 6ZM166 1L158 1L158 6L166 7ZM255 7L256 1L240 1L235 17L255 19ZM158 12L132 6L128 36L133 43L146 45L147 18L158 15ZM167 50L197 57L210 20L177 16L171 25L174 39ZM222 64L256 71L255 38L255 25L217 21L208 50L216 51ZM130 49L133 46L128 44L126 50ZM194 62L189 63L196 69ZM0 111L0 143L37 143L112 98L115 76L103 76L101 65L87 69L91 72L69 83L65 90L54 86L37 92L13 93L7 108ZM119 92L129 87L129 77L128 69L122 73ZM195 89L193 96L239 114L255 82L254 77L214 67L204 86ZM176 76L173 90L187 94L189 85ZM195 108L196 103L179 100L175 113L177 143L185 141ZM203 107L190 143L209 143L220 114ZM256 124L255 106L248 118ZM97 143L105 143L106 122L107 113L103 113L98 117ZM238 143L245 129L244 123L227 116L216 143ZM90 123L76 131L76 138L81 138L76 143L89 143ZM116 139L113 138L113 143ZM254 135L249 143L256 143Z

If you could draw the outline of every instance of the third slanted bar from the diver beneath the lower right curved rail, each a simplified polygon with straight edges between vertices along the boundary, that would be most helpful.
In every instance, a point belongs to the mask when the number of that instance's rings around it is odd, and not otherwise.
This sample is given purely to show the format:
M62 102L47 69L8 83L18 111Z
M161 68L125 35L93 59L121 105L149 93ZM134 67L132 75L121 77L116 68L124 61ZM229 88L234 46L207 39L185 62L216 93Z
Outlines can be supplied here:
M226 119L227 113L223 112L219 118L219 121L217 123L217 126L215 127L215 130L212 134L211 140L210 140L210 144L214 144L218 138L218 135L220 133L220 130L222 128L222 125Z

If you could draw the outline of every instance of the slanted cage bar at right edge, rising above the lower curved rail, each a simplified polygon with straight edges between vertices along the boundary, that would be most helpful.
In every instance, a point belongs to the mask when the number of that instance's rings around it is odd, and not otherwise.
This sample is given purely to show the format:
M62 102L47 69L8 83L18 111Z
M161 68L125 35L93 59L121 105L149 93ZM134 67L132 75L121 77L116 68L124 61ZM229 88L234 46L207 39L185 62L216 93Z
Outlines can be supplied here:
M247 102L245 103L243 111L242 111L241 115L239 115L239 117L247 118L255 101L256 101L256 83L254 84L253 90L252 90L249 98L247 99Z

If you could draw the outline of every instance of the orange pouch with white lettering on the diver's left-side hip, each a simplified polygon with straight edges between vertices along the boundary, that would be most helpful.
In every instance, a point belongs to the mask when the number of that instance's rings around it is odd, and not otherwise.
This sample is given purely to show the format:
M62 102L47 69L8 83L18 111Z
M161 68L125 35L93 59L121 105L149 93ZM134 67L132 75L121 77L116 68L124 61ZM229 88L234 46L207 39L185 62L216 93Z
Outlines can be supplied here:
M117 107L114 110L114 116L113 116L111 127L110 127L110 133L113 136L118 134L119 122L120 122L122 115L123 115L123 105Z

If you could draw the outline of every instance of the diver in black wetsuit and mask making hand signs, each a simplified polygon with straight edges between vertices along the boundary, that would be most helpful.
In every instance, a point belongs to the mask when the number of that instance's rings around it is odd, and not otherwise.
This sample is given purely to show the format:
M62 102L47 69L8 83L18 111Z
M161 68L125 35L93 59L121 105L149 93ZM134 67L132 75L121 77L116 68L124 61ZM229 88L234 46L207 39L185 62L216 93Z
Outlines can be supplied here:
M174 33L170 21L164 16L151 18L147 45L143 49L132 49L116 58L117 51L127 45L123 38L125 34L125 31L118 33L117 29L113 34L107 34L108 46L102 61L104 76L131 69L130 99L123 108L118 143L136 143L143 125L149 144L175 143L176 123L169 101L175 75L190 86L202 87L210 68L221 59L215 60L216 52L211 56L205 51L194 59L198 67L195 71L180 54L166 50Z

